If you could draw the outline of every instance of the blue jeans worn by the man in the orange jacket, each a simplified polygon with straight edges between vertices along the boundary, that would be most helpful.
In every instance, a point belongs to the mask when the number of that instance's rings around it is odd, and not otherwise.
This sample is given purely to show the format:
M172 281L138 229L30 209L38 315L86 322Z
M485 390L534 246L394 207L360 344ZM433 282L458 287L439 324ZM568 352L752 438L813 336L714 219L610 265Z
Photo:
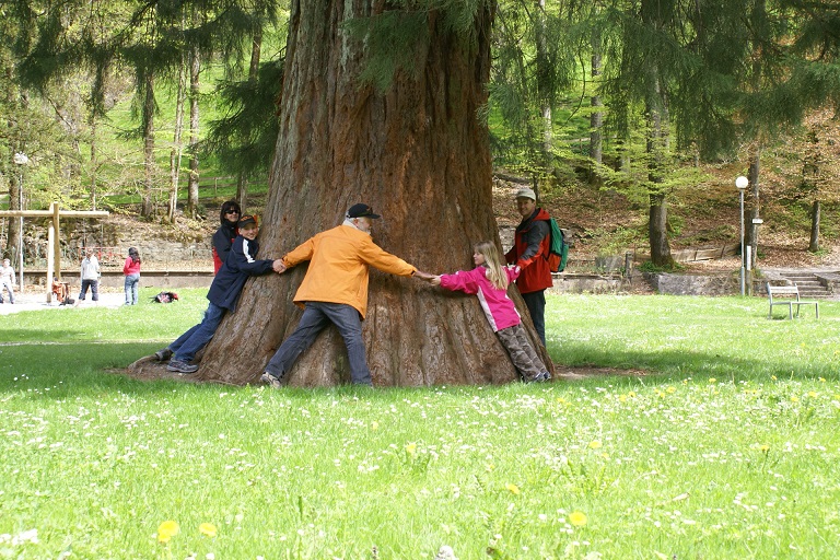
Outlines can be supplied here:
M343 303L306 302L298 328L277 349L266 371L275 377L289 373L298 358L330 323L345 339L350 362L350 378L355 384L372 385L362 339L362 319L355 308Z

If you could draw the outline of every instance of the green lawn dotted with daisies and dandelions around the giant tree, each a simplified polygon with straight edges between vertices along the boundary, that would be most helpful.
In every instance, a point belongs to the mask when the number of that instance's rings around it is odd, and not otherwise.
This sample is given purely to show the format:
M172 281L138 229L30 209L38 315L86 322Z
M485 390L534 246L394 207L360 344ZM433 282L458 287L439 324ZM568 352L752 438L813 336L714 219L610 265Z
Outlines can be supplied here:
M840 549L840 303L768 320L760 299L552 296L558 364L644 375L542 385L271 390L112 372L196 323L203 293L1 317L0 558Z

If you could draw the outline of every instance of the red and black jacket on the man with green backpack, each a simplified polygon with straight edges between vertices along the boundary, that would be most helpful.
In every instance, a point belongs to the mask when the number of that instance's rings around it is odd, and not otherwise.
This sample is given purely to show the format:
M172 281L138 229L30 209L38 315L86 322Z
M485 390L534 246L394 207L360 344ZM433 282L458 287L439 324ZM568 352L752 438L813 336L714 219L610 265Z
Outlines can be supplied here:
M530 293L551 288L551 269L548 267L548 252L551 237L548 220L551 217L537 208L529 218L516 226L513 247L505 254L510 265L522 269L516 287L520 293Z

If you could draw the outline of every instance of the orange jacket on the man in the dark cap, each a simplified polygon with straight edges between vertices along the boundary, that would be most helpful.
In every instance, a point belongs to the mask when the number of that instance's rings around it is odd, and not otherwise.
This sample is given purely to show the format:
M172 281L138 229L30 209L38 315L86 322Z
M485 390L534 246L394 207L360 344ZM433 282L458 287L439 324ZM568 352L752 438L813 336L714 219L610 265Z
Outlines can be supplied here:
M350 225L339 225L308 238L283 257L287 267L310 260L310 269L294 295L305 302L343 303L364 319L368 310L368 267L397 276L417 270L399 257L384 252L371 235Z

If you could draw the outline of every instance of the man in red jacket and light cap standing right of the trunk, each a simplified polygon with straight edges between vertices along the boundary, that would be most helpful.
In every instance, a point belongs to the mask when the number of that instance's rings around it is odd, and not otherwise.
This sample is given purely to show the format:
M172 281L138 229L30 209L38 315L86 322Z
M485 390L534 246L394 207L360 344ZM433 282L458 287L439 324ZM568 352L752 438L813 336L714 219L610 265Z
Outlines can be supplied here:
M516 191L516 209L522 215L522 222L516 226L513 247L504 257L509 265L516 265L522 269L516 288L525 300L542 346L546 346L546 288L553 285L548 267L550 217L548 212L537 208L537 196L530 188Z

